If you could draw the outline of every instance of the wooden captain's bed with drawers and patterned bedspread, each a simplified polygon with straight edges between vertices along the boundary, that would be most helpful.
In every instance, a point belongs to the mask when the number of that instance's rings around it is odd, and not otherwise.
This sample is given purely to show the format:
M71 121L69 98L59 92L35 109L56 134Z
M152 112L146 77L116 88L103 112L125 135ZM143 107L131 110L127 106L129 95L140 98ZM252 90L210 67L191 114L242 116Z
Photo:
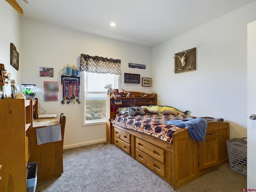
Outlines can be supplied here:
M157 104L156 98L153 104ZM114 105L109 100L108 107L111 109ZM166 120L197 117L111 114L107 141L166 180L174 190L228 162L229 124L220 119L204 118L207 121L205 138L198 141L190 136L187 128L164 123Z

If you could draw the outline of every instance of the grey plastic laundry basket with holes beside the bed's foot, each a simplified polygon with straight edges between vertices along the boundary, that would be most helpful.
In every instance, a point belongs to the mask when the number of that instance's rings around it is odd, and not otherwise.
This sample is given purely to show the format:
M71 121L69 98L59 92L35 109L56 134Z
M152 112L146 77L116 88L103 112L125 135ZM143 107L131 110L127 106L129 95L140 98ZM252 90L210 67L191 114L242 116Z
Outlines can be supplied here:
M247 137L233 138L226 141L226 143L229 168L247 176Z

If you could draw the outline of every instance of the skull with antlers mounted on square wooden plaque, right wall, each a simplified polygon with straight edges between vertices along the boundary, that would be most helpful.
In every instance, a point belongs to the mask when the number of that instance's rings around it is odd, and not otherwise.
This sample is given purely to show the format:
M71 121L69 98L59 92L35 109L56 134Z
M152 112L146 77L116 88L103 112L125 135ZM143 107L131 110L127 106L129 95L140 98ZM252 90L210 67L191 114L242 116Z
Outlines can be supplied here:
M186 57L185 57L186 55ZM174 53L174 73L196 70L196 48Z

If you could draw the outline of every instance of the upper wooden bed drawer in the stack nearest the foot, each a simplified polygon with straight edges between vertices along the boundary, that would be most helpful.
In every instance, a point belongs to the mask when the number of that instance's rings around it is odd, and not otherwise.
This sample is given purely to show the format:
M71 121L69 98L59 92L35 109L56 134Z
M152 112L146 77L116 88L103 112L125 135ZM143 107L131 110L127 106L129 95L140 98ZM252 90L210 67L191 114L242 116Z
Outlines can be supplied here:
M164 163L164 150L138 138L136 138L136 148L160 161L161 163Z

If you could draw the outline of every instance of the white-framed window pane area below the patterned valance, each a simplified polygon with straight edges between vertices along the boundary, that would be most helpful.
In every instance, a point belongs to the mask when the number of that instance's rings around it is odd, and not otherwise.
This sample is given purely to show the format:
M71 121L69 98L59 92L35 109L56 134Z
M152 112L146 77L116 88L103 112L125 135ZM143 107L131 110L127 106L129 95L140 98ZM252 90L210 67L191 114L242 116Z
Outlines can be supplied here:
M118 75L84 73L83 125L106 123L107 84L118 88Z

